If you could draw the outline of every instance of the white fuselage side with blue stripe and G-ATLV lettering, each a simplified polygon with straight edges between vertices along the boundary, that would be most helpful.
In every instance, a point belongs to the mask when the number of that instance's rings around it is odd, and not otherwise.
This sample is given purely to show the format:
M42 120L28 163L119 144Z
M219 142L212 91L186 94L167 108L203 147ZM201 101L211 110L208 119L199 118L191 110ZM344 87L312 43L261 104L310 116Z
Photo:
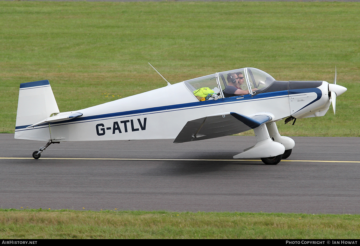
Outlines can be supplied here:
M324 87L327 84L323 82ZM324 91L326 92L320 93L320 100L316 100L319 105L315 108L320 111L327 111L330 105L327 89ZM15 138L39 141L172 139L176 138L189 120L224 112L243 115L271 112L275 116L274 121L294 113L297 118L309 117L312 114L309 111L313 108L311 101L318 96L319 93L315 92L289 96L288 91L276 91L254 96L199 101L184 83L180 82L77 110L76 112L82 113L81 117L50 123L50 131L48 124L15 130Z

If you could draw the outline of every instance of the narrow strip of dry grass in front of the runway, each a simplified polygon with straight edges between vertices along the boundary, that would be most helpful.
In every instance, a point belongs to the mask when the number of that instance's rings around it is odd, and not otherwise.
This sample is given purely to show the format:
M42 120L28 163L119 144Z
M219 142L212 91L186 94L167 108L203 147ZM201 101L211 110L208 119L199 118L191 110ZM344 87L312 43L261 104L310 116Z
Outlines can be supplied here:
M145 212L0 209L0 238L360 237L360 216L238 212Z

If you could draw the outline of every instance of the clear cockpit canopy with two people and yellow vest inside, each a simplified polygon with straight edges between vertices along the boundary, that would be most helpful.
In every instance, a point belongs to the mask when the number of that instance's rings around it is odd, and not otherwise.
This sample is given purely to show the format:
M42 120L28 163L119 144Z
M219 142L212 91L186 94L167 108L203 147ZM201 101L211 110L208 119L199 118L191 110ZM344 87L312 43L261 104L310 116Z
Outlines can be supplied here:
M245 92L249 95L259 94L264 92L274 81L275 79L266 72L257 68L246 67L186 80L183 83L199 101L204 101L217 99L216 96L211 96L213 94L217 94L218 98L240 96L224 93L228 86L243 90L244 95Z

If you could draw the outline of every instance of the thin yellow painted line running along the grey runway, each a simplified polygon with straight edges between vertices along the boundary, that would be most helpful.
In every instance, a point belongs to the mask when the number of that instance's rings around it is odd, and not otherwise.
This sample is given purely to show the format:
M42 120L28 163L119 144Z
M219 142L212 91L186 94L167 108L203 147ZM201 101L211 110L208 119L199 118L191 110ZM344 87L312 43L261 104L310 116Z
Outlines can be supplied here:
M31 157L0 157L0 159L34 160ZM239 159L137 159L137 158L40 158L44 160L118 160L118 161L261 161ZM360 163L360 161L314 161L314 160L281 160L288 162L335 162L335 163Z

